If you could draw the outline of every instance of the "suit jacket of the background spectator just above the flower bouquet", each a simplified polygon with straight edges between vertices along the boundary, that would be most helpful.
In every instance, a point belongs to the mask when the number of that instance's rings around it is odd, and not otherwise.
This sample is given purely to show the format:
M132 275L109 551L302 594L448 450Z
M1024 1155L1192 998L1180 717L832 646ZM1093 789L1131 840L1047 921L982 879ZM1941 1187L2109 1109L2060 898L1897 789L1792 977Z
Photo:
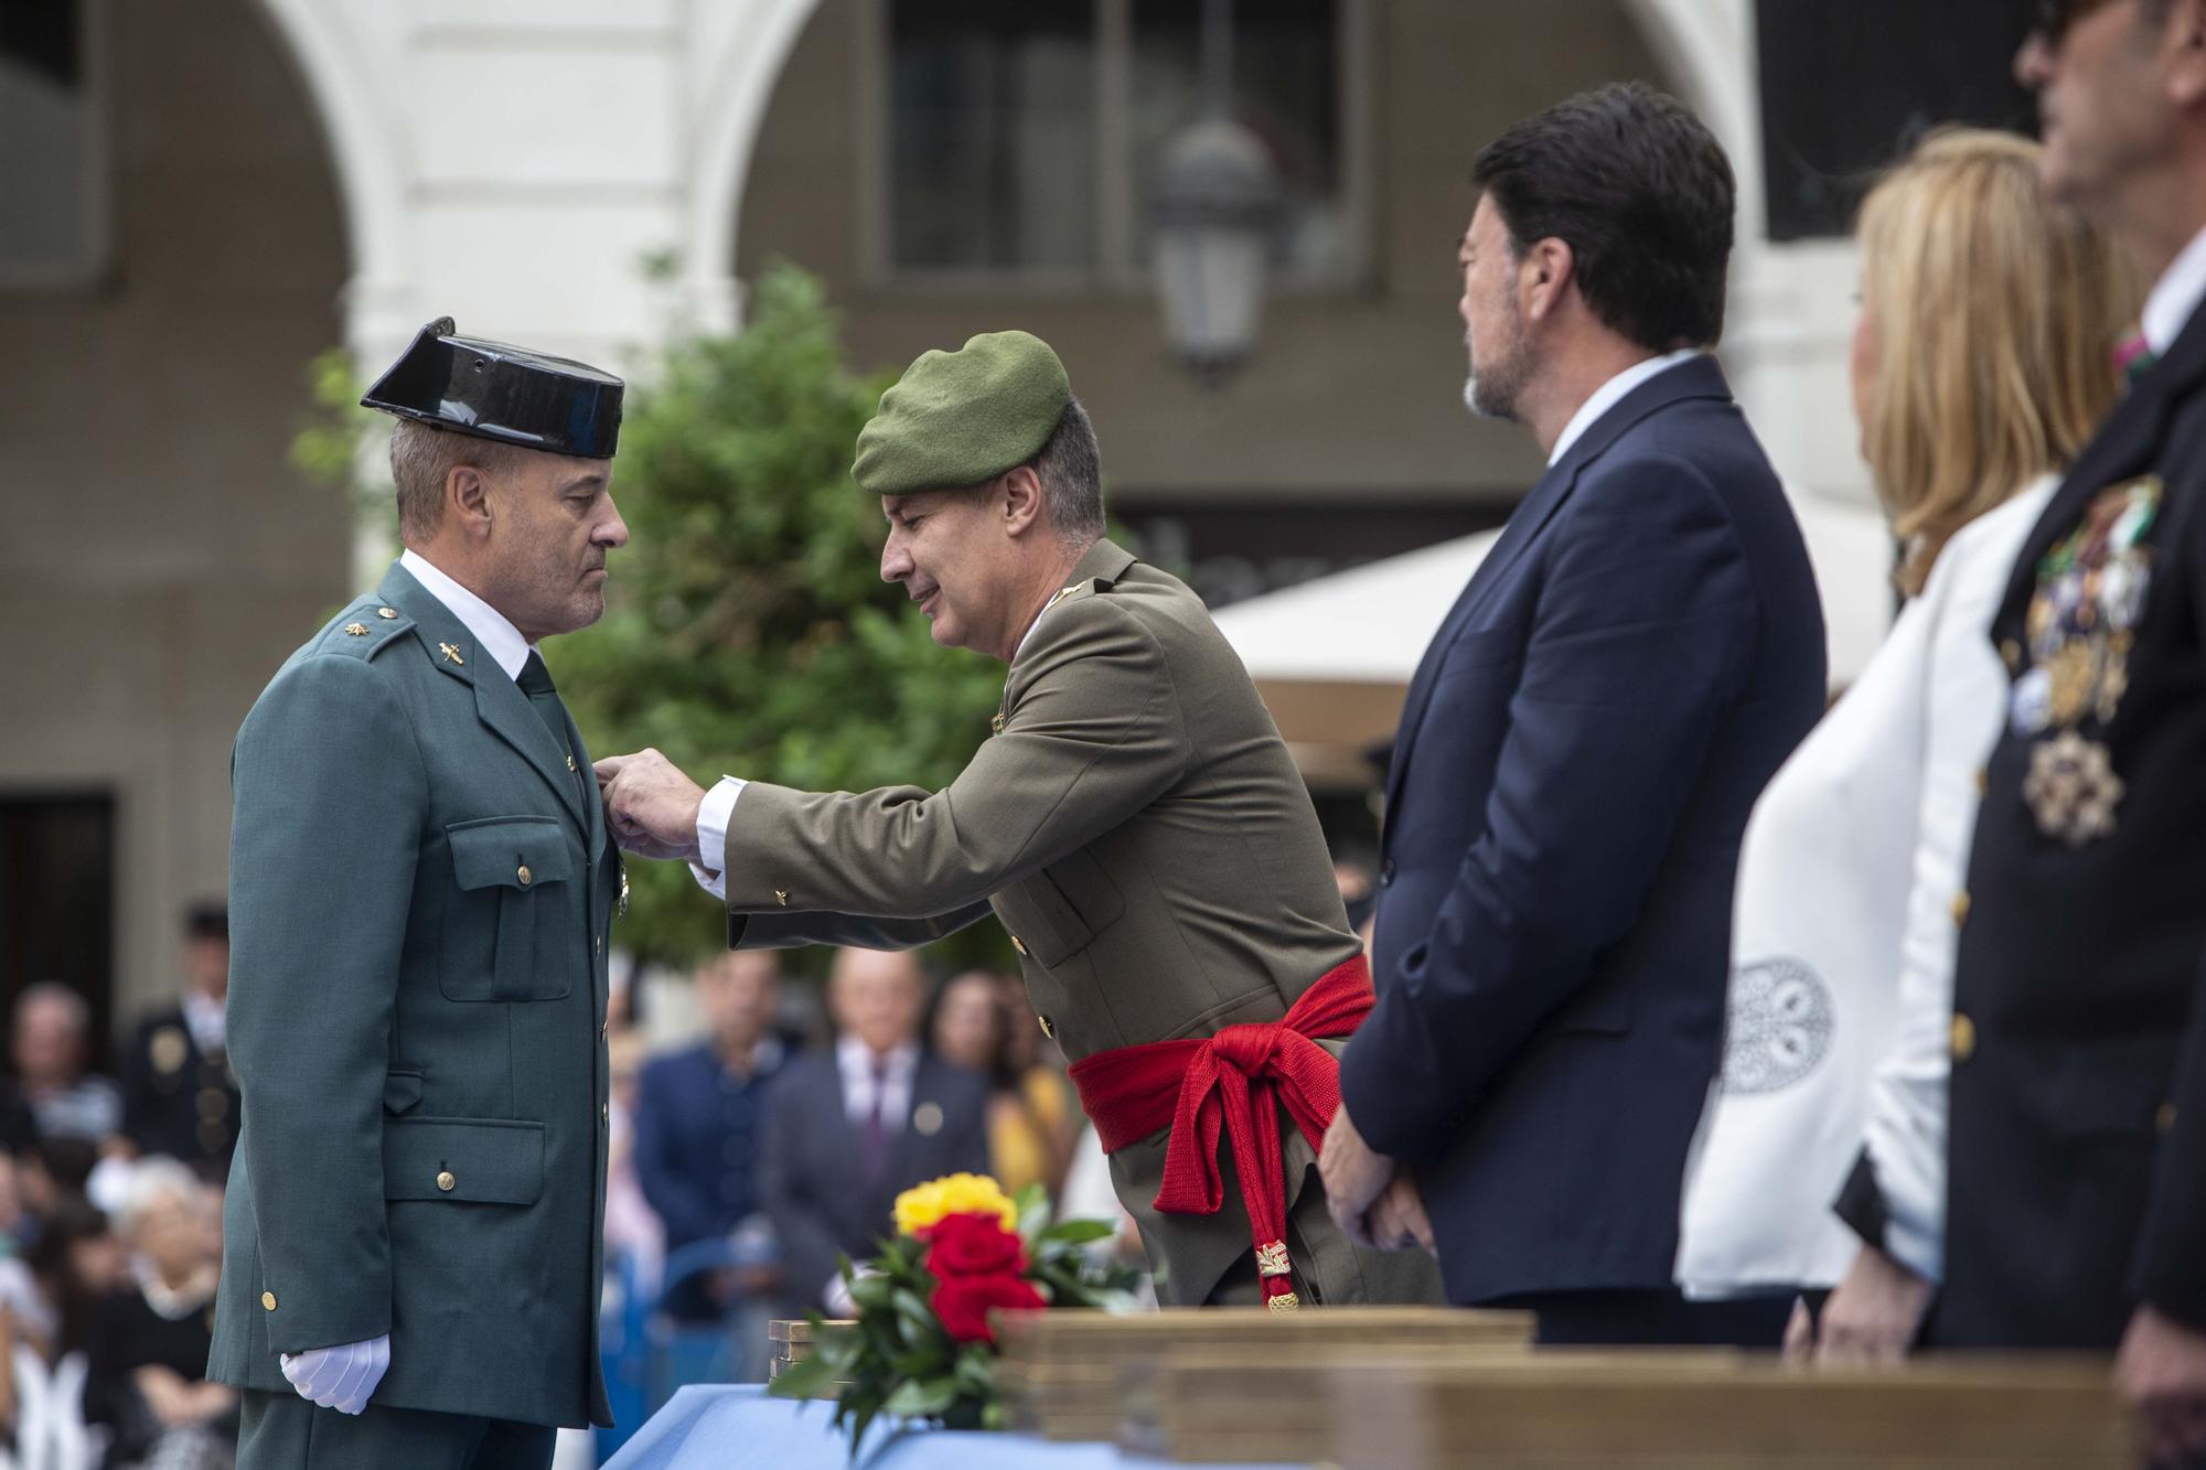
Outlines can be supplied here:
M834 1053L796 1057L768 1088L763 1165L759 1203L781 1245L785 1304L818 1307L836 1254L867 1260L896 1234L898 1194L944 1174L988 1172L988 1082L922 1053L887 1168L867 1181Z

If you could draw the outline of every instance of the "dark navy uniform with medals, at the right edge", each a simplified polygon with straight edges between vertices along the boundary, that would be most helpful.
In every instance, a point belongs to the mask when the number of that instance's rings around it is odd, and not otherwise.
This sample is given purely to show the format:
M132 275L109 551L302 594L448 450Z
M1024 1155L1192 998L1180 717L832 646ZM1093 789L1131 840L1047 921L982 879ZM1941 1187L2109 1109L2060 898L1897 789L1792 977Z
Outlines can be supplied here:
M2206 1329L2206 311L2116 408L1992 625L1952 1015L1939 1346Z

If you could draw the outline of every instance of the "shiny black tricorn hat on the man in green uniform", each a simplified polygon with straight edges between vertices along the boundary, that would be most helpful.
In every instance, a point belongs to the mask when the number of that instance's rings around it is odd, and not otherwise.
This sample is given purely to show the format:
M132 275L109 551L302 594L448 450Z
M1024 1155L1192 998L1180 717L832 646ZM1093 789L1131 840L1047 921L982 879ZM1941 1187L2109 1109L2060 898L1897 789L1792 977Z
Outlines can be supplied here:
M618 377L587 362L454 331L448 316L424 327L360 406L547 455L613 457Z

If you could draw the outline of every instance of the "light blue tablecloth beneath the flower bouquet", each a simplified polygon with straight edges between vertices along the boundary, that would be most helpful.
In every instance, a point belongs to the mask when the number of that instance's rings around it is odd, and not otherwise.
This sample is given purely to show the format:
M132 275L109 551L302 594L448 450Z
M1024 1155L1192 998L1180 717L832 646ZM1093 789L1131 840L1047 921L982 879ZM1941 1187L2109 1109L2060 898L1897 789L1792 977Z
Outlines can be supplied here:
M604 1470L847 1470L849 1446L834 1432L829 1404L770 1399L763 1384L693 1384L622 1446ZM904 1430L874 1424L863 1470L1158 1470L1169 1461L1107 1444L1050 1444L1035 1435ZM1246 1466L1244 1470L1310 1470Z

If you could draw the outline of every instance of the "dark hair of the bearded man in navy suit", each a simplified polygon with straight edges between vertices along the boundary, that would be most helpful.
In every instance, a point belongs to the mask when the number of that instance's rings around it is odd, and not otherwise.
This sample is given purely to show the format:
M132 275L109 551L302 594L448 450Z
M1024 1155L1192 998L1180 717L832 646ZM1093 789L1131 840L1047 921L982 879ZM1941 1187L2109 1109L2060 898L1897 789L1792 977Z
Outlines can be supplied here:
M1723 338L1732 161L1674 97L1641 82L1579 93L1487 143L1471 183L1516 256L1571 247L1577 289L1617 335L1648 351Z

